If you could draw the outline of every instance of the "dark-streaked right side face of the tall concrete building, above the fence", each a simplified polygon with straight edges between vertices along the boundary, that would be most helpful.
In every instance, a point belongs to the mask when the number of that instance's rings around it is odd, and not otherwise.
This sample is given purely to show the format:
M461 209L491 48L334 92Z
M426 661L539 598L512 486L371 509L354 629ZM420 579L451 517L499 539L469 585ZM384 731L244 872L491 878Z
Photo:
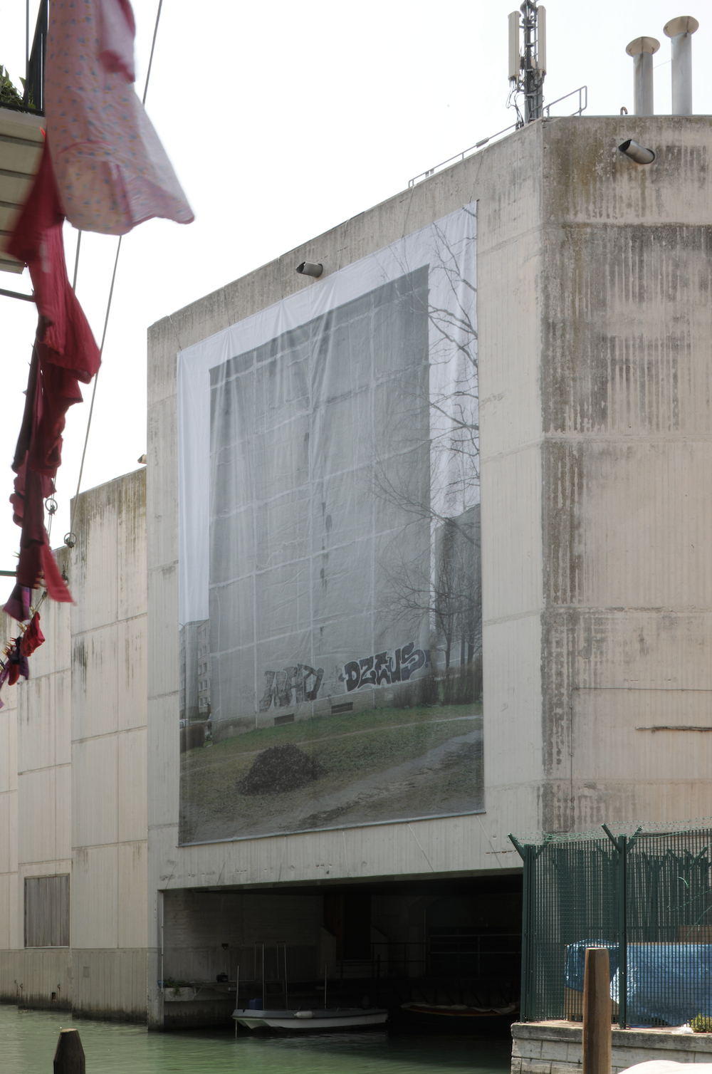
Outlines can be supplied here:
M650 170L614 129L544 164L547 830L709 815L710 120L637 118Z

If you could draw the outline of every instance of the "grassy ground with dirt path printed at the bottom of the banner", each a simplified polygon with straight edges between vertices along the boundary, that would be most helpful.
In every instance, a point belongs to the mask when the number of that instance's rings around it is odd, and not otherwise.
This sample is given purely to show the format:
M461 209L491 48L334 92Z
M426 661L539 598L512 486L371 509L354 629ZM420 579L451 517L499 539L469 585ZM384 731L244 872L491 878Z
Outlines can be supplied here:
M476 812L481 713L481 702L367 709L189 750L180 758L180 841ZM310 774L293 789L287 772L256 790L252 766L265 751L277 768L296 759Z

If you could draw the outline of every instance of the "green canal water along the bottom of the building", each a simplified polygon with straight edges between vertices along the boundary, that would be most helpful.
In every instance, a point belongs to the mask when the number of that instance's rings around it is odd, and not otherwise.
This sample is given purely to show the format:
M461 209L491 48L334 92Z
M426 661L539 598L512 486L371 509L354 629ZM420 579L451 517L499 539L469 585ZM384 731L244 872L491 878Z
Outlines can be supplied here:
M255 1037L202 1031L148 1033L141 1026L88 1021L0 1005L2 1074L52 1074L60 1029L75 1026L87 1074L505 1074L511 1042L386 1032Z

